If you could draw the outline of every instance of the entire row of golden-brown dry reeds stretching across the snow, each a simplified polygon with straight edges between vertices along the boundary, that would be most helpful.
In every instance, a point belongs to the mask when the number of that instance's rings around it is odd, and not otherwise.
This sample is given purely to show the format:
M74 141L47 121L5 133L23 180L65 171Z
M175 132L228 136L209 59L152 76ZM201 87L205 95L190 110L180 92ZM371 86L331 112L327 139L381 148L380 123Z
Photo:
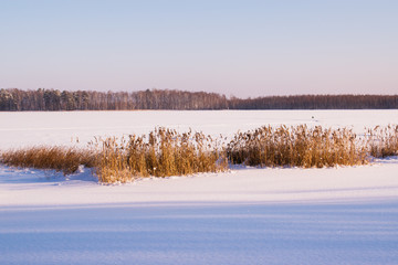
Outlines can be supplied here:
M38 146L0 153L15 167L73 173L93 168L102 183L145 177L185 176L227 170L229 165L323 168L368 163L373 157L398 156L398 126L375 127L358 137L352 129L263 126L227 141L202 132L156 128L148 135L95 138L88 148Z

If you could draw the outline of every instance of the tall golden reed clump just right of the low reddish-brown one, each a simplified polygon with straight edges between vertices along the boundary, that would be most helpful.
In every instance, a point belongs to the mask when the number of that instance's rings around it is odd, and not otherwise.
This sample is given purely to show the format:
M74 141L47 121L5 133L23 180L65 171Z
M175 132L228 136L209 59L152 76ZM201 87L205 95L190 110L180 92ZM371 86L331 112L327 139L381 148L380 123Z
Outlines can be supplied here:
M148 137L130 135L96 139L101 182L128 182L142 177L169 177L227 169L224 151L211 136L156 128Z

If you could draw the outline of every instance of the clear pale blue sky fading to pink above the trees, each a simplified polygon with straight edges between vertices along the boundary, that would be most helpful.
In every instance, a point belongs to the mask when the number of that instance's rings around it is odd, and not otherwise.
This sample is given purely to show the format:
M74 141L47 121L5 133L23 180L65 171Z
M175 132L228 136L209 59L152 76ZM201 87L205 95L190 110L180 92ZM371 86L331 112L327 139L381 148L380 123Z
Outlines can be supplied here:
M0 88L398 94L396 0L0 0Z

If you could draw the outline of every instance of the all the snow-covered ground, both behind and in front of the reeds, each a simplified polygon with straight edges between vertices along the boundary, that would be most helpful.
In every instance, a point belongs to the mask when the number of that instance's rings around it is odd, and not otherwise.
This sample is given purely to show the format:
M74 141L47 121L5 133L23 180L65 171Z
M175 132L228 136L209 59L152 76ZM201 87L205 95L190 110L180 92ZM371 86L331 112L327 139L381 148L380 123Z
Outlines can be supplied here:
M155 126L231 136L262 125L398 124L397 110L0 113L0 149L80 145ZM0 264L398 264L398 158L328 169L100 186L90 169L0 167Z

